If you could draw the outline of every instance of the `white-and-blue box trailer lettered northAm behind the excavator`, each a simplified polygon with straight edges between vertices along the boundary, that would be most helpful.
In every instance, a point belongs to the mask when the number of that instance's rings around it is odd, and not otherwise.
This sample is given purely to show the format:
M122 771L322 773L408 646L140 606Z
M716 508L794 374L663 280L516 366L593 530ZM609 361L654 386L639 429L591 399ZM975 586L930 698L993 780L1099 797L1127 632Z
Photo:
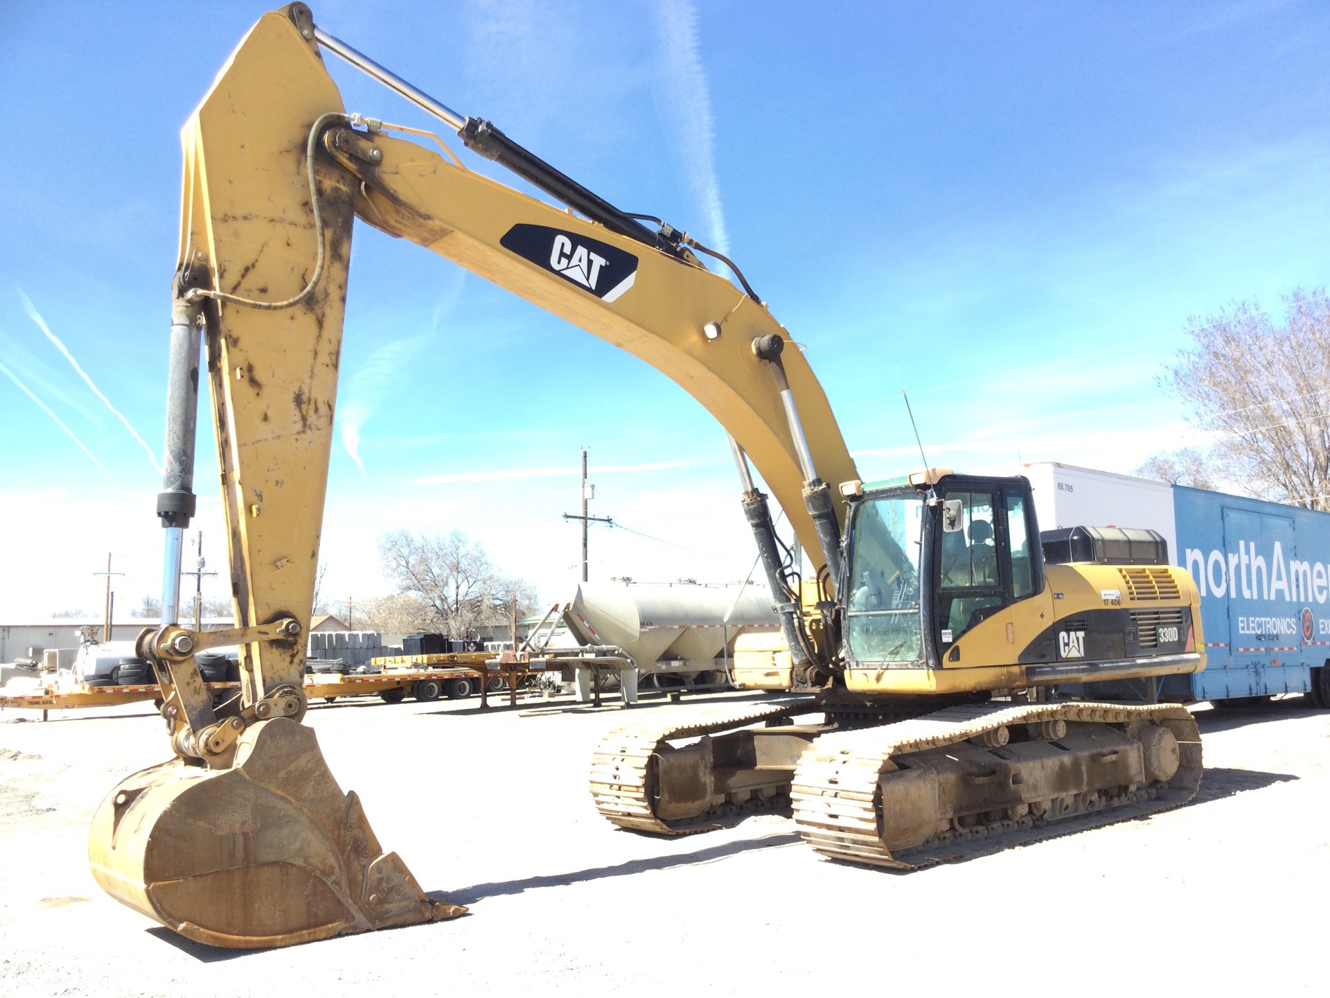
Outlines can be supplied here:
M1041 530L1145 527L1201 593L1204 672L1144 683L1096 684L1088 696L1246 705L1307 693L1330 707L1330 512L1149 479L1037 463ZM1112 689L1104 688L1112 685Z

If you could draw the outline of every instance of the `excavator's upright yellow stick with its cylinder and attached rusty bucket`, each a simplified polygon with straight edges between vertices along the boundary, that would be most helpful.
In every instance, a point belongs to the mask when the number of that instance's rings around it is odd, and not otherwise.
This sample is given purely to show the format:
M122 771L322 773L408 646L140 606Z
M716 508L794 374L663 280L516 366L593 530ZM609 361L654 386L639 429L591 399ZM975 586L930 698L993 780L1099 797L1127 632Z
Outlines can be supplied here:
M93 877L198 942L283 946L450 918L360 801L343 794L305 716L356 182L314 156L346 120L303 4L265 15L182 133L185 184L168 391L158 669L177 758L97 810ZM200 326L221 458L237 628L176 625L180 531L194 512ZM241 696L215 705L194 652L241 648Z

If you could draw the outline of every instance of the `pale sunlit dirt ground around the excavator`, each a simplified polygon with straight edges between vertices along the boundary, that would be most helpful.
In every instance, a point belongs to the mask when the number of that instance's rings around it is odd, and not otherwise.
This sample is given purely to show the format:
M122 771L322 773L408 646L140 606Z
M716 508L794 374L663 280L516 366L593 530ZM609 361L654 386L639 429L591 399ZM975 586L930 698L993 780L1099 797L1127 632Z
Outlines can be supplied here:
M585 780L622 712L475 708L309 716L384 848L471 913L245 953L176 937L88 873L93 809L169 756L150 705L0 712L0 993L1325 994L1330 713L1301 697L1198 709L1205 778L1186 808L910 874L825 861L777 816L616 830ZM688 705L633 719L661 711Z

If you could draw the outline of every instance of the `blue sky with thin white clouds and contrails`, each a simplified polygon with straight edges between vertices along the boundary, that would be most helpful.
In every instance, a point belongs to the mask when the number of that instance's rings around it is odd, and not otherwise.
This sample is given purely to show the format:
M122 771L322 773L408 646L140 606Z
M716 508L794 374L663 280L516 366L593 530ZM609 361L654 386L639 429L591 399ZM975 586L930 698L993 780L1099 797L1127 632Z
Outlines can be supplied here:
M1330 270L1322 4L313 7L616 205L728 249L806 346L864 478L918 464L902 390L931 463L1130 471L1196 439L1156 383L1189 318L1236 299L1277 309ZM262 11L0 8L3 620L96 611L106 551L126 572L118 607L160 589L149 450L178 130ZM350 109L438 128L329 65ZM751 566L724 432L692 399L367 228L342 373L334 599L387 589L375 546L395 528L464 530L545 600L567 599L580 536L560 514L576 511L581 446L592 512L658 539L597 530L593 578ZM207 434L198 460L215 568Z

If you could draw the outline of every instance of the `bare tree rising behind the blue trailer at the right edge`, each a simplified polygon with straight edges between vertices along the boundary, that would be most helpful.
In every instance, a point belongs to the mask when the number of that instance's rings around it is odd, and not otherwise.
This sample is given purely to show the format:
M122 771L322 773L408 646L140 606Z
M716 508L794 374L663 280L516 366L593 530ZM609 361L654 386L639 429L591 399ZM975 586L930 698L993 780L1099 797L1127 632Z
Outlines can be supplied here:
M1295 287L1282 322L1241 302L1189 319L1162 379L1217 431L1216 470L1262 498L1330 510L1330 301Z

